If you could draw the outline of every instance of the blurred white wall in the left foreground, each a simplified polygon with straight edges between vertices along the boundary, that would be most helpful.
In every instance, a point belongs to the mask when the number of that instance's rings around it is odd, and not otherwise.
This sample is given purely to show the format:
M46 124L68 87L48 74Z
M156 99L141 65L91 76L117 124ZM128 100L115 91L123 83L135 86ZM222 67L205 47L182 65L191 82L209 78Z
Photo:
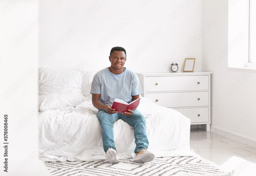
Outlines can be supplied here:
M38 1L1 0L0 7L0 172L46 176L37 157Z

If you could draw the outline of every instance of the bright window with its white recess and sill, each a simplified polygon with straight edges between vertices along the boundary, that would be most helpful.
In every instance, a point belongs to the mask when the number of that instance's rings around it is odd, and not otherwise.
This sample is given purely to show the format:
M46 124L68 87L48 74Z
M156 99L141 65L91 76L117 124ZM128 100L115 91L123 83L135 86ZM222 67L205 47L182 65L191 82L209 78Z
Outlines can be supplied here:
M228 70L256 68L256 0L229 0Z

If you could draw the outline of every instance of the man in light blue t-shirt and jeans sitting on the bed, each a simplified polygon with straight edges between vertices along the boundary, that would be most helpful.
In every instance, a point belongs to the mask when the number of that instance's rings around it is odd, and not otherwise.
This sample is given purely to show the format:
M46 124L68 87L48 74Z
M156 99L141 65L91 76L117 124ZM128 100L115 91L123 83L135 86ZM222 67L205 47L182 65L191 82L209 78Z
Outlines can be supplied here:
M106 159L112 164L119 162L114 142L113 124L121 119L134 129L136 156L134 162L150 162L155 155L148 152L148 139L145 118L137 109L118 113L112 108L115 98L127 103L139 98L142 89L137 75L123 67L126 61L126 51L122 47L113 47L110 51L109 61L111 66L95 74L92 87L92 104L99 109L98 119L101 124L101 136Z

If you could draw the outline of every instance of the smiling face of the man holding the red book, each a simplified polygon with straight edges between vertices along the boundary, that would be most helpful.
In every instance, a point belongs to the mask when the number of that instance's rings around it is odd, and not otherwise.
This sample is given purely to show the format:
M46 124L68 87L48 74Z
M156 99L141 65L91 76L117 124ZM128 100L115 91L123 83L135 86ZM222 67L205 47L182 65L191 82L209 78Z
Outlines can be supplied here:
M114 51L111 56L109 56L109 61L111 62L112 68L121 69L126 61L126 55L123 51Z

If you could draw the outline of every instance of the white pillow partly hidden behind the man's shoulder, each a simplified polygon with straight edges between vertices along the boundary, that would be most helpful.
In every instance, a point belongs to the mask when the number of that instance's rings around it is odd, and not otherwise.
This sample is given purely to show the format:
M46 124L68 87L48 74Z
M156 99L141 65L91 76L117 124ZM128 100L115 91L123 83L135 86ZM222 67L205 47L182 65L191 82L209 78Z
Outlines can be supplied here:
M90 96L91 97L91 85L94 75L98 71L83 71L82 72L82 92L84 96Z

